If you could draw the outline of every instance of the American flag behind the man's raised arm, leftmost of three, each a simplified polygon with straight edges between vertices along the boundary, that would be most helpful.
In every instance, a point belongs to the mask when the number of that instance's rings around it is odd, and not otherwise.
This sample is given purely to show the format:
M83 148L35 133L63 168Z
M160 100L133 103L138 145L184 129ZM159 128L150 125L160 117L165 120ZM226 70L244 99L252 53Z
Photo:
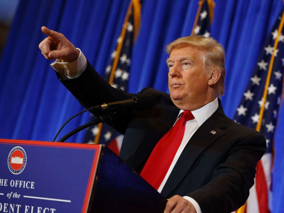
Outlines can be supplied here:
M117 39L117 47L111 54L111 61L105 70L104 76L104 79L107 80L111 86L124 91L127 91L132 46L137 34L135 27L139 27L136 26L137 22L133 17L133 9L134 7L137 7L137 2L139 3L139 1L136 1L136 3L133 2L134 1L131 1L130 3L121 35ZM137 11L135 10L135 12ZM92 116L91 120L94 119L95 117ZM96 142L106 144L118 155L122 144L122 139L123 135L118 133L115 129L107 124L100 124L95 125L94 127L89 127L85 135L84 143Z

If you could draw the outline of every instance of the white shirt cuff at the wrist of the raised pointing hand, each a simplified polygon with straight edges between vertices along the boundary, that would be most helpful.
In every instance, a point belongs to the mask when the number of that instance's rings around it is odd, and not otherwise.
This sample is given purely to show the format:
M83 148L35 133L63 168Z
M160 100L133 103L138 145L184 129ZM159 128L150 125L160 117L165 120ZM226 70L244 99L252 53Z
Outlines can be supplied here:
M61 62L60 59L56 59L55 62L50 64L50 66L59 73L62 80L78 78L86 69L87 59L79 48L77 48L77 50L80 51L77 60L72 62Z

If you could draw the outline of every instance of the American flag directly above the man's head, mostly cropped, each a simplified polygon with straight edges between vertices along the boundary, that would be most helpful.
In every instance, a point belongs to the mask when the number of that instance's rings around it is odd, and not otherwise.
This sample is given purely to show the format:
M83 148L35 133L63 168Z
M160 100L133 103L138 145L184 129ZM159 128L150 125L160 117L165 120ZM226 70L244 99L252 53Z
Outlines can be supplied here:
M205 37L209 37L215 3L213 0L201 0L198 4L199 7L191 35L204 35Z

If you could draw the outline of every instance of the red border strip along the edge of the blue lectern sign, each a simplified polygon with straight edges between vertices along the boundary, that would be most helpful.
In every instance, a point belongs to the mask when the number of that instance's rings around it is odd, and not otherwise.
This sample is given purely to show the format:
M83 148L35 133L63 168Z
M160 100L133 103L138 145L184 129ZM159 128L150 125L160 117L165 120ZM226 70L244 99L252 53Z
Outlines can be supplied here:
M90 175L88 178L87 188L85 190L85 195L83 199L83 205L81 212L87 212L88 204L91 197L91 191L93 188L93 183L95 179L96 169L98 167L98 157L101 151L101 145L99 144L85 144L85 143L62 143L62 142L46 142L46 141L24 141L24 140L12 140L12 139L0 139L0 144L17 144L17 145L27 145L27 146L41 146L41 147L61 147L68 149L89 149L96 151L92 166L90 169Z

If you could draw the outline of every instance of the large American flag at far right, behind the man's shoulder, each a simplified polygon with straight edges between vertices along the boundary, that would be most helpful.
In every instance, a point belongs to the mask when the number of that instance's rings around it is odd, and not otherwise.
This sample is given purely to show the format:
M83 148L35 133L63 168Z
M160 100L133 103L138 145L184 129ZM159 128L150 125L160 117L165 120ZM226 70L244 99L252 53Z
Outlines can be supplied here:
M257 164L255 184L250 190L249 199L246 206L238 212L267 213L271 211L273 137L277 126L279 105L282 102L284 68L282 13L283 11L265 41L234 117L234 121L260 131L267 143L267 150ZM258 122L260 123L257 126Z

